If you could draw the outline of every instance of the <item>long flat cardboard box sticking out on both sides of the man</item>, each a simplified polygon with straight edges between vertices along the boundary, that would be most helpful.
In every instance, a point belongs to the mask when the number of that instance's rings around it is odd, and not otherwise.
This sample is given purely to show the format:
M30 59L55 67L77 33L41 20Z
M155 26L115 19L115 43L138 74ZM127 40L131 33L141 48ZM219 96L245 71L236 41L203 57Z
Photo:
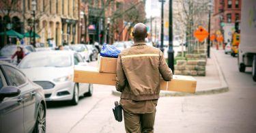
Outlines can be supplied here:
M76 66L74 68L74 82L91 83L100 85L115 85L116 74L100 73L98 68ZM195 93L197 80L192 76L173 75L169 82L160 80L160 89L165 91L179 91L186 93Z

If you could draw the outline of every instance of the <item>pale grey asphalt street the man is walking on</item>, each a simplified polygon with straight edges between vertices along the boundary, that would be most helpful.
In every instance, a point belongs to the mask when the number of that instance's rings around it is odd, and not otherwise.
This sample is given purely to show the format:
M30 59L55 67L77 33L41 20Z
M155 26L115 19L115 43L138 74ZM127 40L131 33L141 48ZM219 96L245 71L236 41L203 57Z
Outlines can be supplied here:
M213 52L212 52L213 53ZM216 51L229 90L226 93L158 100L154 132L256 132L256 83L251 69L238 72L237 59ZM214 55L212 55L214 56ZM48 104L47 132L125 132L124 121L113 117L111 86L94 85L91 97L79 105L66 102Z

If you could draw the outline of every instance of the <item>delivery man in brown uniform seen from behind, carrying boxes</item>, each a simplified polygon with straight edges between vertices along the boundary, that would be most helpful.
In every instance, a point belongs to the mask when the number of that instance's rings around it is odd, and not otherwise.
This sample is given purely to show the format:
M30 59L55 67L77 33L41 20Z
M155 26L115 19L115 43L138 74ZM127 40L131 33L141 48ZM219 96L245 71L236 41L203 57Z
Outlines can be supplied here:
M146 25L135 25L132 36L134 45L122 50L117 59L116 89L122 92L124 124L126 132L154 132L160 74L167 81L173 74L163 53L146 45Z

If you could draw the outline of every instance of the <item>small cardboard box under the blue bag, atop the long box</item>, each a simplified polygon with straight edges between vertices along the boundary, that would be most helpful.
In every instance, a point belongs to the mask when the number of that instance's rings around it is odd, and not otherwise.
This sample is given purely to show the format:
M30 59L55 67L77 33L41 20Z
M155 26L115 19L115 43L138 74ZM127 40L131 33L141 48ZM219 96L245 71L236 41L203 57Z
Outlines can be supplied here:
M99 72L113 73L117 72L117 58L100 57Z

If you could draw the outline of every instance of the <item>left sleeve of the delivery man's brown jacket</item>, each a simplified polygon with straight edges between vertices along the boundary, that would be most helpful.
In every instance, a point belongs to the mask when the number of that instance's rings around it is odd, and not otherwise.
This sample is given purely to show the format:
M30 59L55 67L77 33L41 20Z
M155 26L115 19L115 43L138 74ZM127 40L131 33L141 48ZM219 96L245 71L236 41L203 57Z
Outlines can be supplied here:
M119 55L117 58L117 77L116 77L115 89L117 91L122 92L124 87L126 86L126 76L124 74L124 70L122 68L121 56Z

